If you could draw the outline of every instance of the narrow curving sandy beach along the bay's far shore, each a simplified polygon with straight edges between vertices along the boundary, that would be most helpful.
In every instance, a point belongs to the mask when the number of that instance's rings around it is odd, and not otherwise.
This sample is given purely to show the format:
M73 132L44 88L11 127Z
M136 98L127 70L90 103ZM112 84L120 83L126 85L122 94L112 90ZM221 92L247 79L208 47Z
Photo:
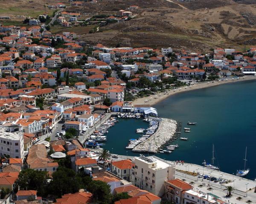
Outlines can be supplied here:
M150 95L148 97L138 98L138 99L134 100L133 104L134 105L150 104L152 106L152 105L155 105L158 102L162 101L163 99L166 99L169 96L172 96L177 93L182 93L184 91L192 91L192 90L196 90L196 89L200 89L200 88L208 88L208 87L218 86L218 85L227 84L227 83L235 83L235 82L255 80L255 79L256 79L256 76L248 76L248 77L244 77L244 78L240 77L239 79L228 79L228 80L224 80L224 81L214 81L213 83L212 82L198 82L191 86L177 88L176 90L166 90L165 92L167 92L167 93L158 92L156 95ZM148 102L145 102L145 100L148 100Z

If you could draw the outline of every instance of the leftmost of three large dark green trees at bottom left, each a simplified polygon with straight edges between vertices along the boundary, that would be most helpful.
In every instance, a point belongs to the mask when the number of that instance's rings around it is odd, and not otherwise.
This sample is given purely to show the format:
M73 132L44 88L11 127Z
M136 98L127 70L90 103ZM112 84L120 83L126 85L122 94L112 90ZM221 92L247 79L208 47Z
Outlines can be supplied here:
M33 169L22 170L15 181L22 190L37 190L38 195L46 195L47 179L46 171L35 171Z

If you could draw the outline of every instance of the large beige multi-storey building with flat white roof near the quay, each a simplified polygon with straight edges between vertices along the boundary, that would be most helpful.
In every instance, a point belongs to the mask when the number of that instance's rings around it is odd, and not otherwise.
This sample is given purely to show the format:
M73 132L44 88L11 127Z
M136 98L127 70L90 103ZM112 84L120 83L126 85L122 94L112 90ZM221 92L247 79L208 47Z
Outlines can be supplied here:
M132 183L157 196L165 193L165 181L175 176L175 165L156 156L135 157L132 165Z

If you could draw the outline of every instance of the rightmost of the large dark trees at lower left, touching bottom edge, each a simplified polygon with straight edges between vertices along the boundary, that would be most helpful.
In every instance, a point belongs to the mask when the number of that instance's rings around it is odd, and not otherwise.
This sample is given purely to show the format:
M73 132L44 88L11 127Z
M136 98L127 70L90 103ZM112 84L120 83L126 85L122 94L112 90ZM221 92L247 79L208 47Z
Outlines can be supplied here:
M91 181L87 188L93 194L93 201L99 204L111 203L111 190L110 185L103 181Z

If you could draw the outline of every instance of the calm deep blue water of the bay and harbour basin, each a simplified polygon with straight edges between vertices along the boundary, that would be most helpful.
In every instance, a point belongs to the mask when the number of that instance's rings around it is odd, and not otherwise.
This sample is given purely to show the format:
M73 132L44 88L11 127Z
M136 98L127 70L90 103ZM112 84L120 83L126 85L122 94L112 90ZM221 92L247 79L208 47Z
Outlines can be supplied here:
M171 154L158 153L169 160L184 160L201 164L204 159L211 162L212 144L215 145L215 164L222 171L236 173L244 167L245 147L247 146L247 178L256 178L256 82L245 81L220 85L212 88L176 94L154 106L158 116L172 118L183 123L197 122L190 126L190 133L181 136L188 141L177 140L179 148ZM109 129L105 148L113 153L134 156L126 152L128 139L139 135L135 130L147 127L140 119L119 119L120 122Z

